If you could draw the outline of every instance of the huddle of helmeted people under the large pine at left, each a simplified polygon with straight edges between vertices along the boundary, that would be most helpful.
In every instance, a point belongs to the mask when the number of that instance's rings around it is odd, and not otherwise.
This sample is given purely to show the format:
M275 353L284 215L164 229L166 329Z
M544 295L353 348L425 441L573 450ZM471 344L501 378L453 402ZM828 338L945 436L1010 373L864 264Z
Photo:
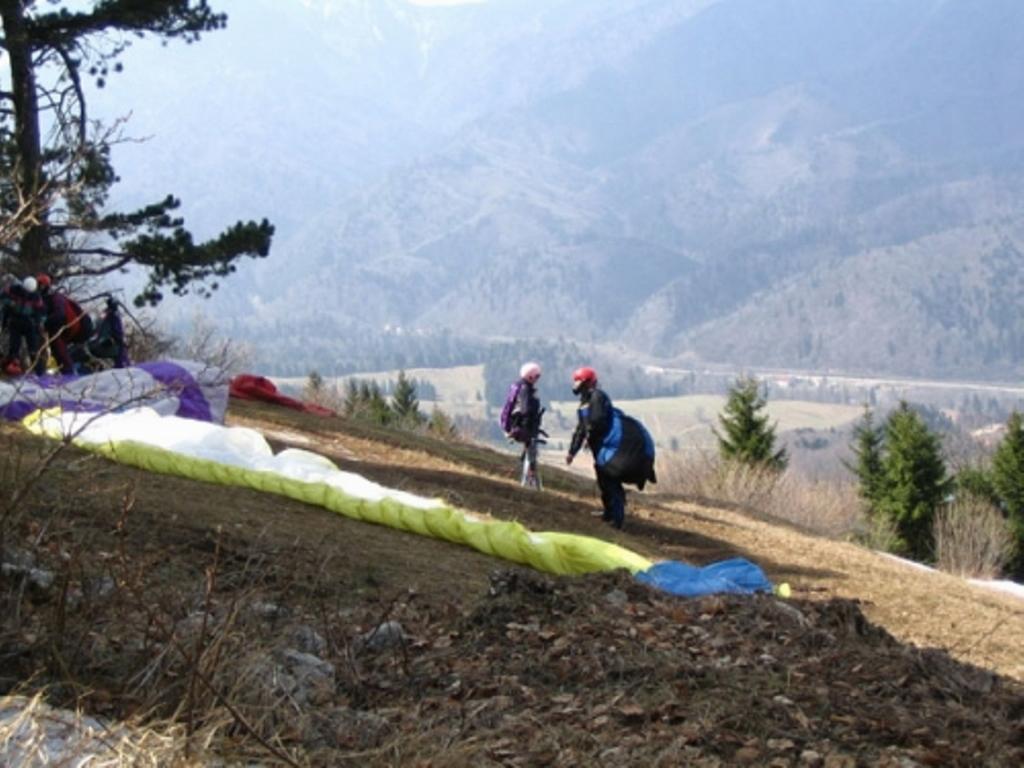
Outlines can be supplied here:
M0 371L7 376L47 373L52 356L62 375L81 373L91 360L128 365L124 324L113 296L96 323L49 274L18 280L6 274L0 284L0 322L7 336Z

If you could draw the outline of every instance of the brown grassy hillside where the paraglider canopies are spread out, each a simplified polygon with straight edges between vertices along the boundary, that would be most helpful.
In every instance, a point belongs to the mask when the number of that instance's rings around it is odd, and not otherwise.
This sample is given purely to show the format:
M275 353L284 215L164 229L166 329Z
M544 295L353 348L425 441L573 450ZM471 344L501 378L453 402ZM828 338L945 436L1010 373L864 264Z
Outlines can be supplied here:
M1024 758L1016 598L668 495L631 495L612 531L590 478L548 468L526 492L508 456L458 441L233 400L228 421L477 515L654 559L743 556L794 596L544 577L280 497L47 458L0 426L4 486L27 492L5 553L55 575L0 574L2 691L264 765Z

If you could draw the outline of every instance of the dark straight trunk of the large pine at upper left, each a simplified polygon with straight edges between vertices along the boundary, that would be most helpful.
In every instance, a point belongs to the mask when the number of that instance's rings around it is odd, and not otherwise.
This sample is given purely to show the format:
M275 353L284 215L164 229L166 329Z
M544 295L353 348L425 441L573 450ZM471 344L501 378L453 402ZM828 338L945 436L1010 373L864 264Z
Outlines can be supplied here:
M39 132L39 101L36 73L32 66L32 41L25 25L23 0L0 0L7 56L10 61L14 109L14 141L17 145L15 183L23 203L32 206L32 223L22 237L18 264L24 274L34 274L48 262L47 204L42 194L43 162Z

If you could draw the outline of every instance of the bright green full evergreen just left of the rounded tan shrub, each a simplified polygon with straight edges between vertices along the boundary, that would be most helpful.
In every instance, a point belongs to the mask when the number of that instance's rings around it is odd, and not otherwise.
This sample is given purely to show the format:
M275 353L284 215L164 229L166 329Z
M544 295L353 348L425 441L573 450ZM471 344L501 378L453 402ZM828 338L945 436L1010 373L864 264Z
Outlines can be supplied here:
M879 510L896 527L899 549L918 560L933 554L932 521L951 482L938 436L906 402L885 427L885 489Z

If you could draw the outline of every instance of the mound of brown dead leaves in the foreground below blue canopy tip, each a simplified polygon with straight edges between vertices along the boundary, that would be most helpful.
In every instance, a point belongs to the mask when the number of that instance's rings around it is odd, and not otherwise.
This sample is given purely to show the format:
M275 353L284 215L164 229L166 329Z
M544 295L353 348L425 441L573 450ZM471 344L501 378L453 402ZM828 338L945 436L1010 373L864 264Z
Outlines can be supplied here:
M413 658L366 659L371 707L403 701L415 764L982 765L1024 759L1024 689L918 650L850 601L682 600L624 573L495 574L452 626L402 618ZM397 680L402 684L396 685ZM447 763L451 764L451 763Z

